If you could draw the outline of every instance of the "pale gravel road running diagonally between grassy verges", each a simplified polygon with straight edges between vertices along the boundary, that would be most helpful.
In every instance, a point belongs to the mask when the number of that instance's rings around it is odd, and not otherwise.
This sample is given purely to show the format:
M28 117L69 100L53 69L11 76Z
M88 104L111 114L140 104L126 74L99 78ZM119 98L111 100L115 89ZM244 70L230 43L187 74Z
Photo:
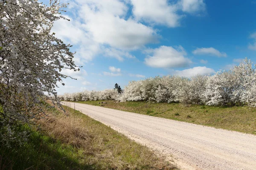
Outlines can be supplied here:
M79 103L75 109L170 155L180 169L256 170L255 135Z

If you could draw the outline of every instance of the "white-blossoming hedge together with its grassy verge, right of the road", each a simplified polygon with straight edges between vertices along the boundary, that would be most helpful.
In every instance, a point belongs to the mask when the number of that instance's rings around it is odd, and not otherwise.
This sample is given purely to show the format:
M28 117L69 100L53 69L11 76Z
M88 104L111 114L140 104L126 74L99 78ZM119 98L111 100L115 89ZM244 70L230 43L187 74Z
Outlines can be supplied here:
M256 65L245 58L213 75L150 77L118 92L83 91L59 99L256 134Z

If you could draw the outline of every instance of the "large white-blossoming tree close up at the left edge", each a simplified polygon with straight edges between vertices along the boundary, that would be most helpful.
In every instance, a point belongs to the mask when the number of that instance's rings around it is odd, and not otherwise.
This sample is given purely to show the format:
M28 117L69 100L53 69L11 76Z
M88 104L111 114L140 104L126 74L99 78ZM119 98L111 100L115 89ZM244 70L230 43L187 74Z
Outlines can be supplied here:
M56 97L56 83L69 77L61 69L77 71L70 45L51 33L66 5L49 2L0 1L0 142L15 139L15 122L37 115L30 109L38 108L43 94Z

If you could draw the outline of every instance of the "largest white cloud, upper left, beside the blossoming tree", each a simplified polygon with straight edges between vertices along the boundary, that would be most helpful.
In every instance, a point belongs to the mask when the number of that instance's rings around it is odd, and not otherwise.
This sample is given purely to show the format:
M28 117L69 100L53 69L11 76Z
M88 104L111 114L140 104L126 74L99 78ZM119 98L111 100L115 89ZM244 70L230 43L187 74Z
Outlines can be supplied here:
M57 20L52 32L65 43L74 45L75 63L83 65L102 54L123 61L135 58L130 50L157 42L157 32L150 26L124 17L128 12L125 2L119 0L74 0L70 21Z

